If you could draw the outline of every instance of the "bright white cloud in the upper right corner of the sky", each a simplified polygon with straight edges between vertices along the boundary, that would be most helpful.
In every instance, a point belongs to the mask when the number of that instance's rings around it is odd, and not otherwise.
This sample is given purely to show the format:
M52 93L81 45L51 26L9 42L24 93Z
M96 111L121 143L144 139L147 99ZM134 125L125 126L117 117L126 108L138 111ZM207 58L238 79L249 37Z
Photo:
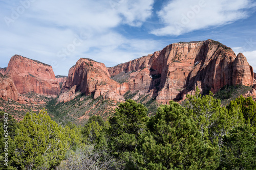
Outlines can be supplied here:
M158 11L164 27L151 33L157 36L181 35L195 30L226 25L248 17L251 0L173 0Z

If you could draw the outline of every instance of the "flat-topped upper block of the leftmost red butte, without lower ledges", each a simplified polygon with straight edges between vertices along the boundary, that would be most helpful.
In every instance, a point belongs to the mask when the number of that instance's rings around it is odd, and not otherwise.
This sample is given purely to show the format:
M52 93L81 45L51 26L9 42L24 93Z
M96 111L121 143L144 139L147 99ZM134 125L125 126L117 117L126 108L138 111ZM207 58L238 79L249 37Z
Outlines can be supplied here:
M56 95L60 92L59 84L50 65L14 55L5 71L14 82L20 94L35 92Z

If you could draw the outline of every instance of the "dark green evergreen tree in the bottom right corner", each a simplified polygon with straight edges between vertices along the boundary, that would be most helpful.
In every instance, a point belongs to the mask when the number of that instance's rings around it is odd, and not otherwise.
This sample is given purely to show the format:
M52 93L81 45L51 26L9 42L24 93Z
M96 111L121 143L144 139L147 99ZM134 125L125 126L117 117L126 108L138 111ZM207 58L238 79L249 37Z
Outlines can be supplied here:
M256 169L255 130L248 125L235 127L224 136L221 168Z

